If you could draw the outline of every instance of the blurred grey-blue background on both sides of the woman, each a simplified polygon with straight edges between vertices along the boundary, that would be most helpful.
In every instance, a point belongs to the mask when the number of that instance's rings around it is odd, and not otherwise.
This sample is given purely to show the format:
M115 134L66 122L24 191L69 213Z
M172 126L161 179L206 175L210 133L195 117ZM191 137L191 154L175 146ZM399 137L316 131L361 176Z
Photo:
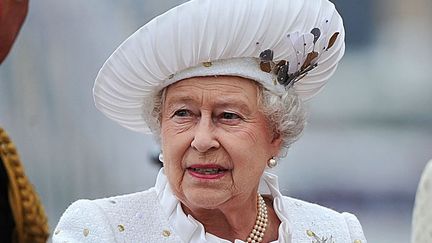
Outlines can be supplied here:
M92 86L124 39L183 2L30 1L0 66L0 125L51 229L79 198L154 184L158 145L99 113ZM274 172L285 195L355 213L369 242L409 242L417 183L432 158L432 1L333 2L345 19L345 58Z

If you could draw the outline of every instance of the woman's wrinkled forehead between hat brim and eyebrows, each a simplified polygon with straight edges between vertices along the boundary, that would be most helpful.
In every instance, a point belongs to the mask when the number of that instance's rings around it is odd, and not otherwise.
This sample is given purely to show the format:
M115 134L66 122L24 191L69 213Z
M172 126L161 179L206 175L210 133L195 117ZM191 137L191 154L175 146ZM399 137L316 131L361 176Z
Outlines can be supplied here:
M210 98L213 101L243 101L256 104L258 85L255 81L234 76L209 76L184 79L168 86L167 102Z

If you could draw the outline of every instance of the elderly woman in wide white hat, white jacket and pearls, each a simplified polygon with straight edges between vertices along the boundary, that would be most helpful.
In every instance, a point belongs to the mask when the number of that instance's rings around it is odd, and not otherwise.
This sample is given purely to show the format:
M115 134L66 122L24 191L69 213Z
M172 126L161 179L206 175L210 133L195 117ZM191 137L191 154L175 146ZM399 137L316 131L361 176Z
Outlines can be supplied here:
M192 0L156 17L94 86L99 110L160 142L156 184L73 203L54 242L366 242L354 215L285 197L266 172L343 52L327 0Z

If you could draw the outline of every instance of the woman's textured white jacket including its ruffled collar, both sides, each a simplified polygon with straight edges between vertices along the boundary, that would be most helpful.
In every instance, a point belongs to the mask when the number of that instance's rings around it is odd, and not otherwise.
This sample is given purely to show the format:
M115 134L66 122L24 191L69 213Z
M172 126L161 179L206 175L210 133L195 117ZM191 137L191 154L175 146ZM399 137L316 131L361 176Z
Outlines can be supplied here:
M307 231L333 237L337 243L366 243L361 225L352 214L282 196L277 177L265 173L260 191L274 197L281 225L280 243L312 242ZM172 194L163 169L155 187L139 193L98 200L79 200L61 217L53 235L63 242L228 242L206 233L202 225L186 216ZM240 240L236 241L242 242ZM358 241L357 241L358 242Z

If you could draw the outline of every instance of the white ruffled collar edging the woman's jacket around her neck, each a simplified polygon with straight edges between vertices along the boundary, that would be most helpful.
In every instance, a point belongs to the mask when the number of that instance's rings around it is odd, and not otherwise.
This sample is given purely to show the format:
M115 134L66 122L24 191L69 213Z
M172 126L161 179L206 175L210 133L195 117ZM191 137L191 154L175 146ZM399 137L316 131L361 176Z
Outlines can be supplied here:
M183 212L180 201L171 191L163 168L159 171L155 188L158 200L162 205L162 210L168 217L170 225L184 242L230 242L210 233L206 233L204 226L198 220ZM288 213L282 203L282 194L279 192L277 176L269 172L264 172L260 180L259 192L261 194L270 194L273 197L273 208L281 221L278 240L272 243L291 242L291 227L289 220L286 218ZM244 243L244 241L235 240L235 243Z

